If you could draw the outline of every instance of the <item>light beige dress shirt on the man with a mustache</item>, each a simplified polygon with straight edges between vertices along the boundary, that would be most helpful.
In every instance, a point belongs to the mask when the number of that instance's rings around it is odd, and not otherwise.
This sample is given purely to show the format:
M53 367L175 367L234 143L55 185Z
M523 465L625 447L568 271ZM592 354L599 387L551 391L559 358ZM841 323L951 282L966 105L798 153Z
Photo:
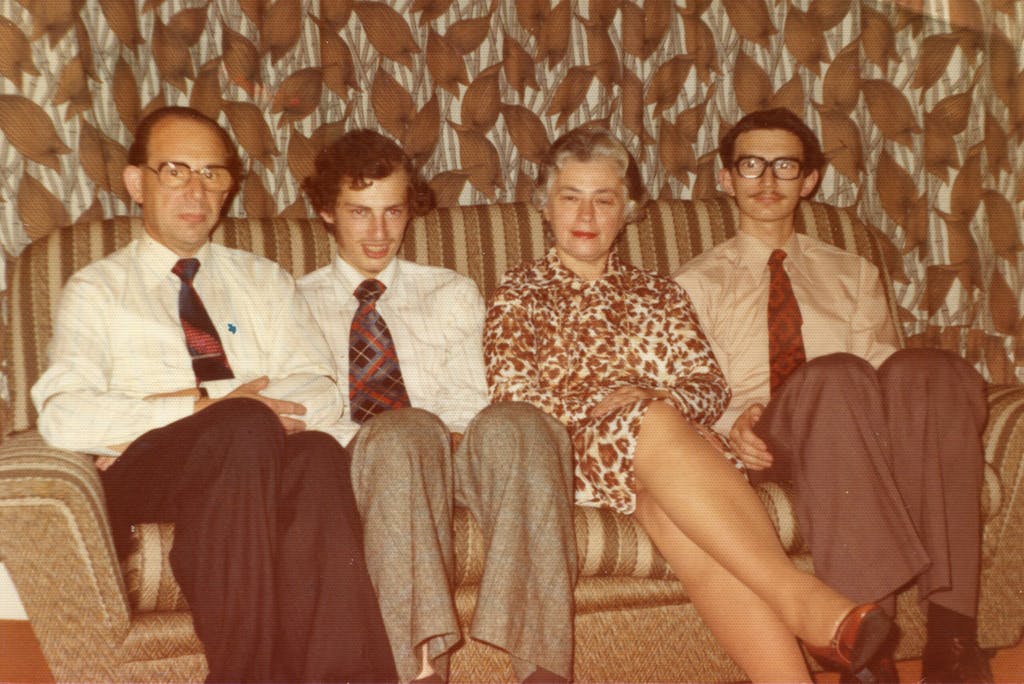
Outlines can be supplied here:
M771 246L745 232L674 273L689 293L732 401L715 424L728 434L752 403L768 403L768 257ZM860 256L796 233L783 262L804 319L807 358L845 351L878 368L897 349L878 269Z

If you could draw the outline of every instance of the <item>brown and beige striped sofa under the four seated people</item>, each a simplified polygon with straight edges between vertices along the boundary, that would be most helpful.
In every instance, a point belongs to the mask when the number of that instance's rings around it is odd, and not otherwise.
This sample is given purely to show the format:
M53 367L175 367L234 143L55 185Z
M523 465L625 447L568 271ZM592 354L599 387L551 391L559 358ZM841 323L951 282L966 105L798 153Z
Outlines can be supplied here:
M628 261L668 273L735 228L735 207L727 198L656 201L642 222L627 228L618 249ZM898 255L877 231L851 212L814 203L802 206L798 228L877 263L899 319L888 268ZM169 571L173 527L138 525L135 549L119 565L90 459L46 446L33 429L29 389L45 366L61 284L140 229L137 218L127 217L57 229L30 246L9 269L0 350L10 395L0 444L0 560L60 681L193 681L206 673L190 613ZM334 253L331 238L312 220L228 218L214 240L263 254L295 275L326 264ZM509 266L544 249L537 212L506 204L435 210L411 227L403 255L466 273L486 295ZM1024 388L992 387L990 404L981 640L1005 646L1024 626ZM760 494L785 548L809 568L788 493L769 485ZM465 511L458 512L457 527L457 604L468 621L483 546ZM578 508L575 531L577 680L742 678L631 518ZM898 655L909 656L921 651L923 618L912 591L900 601ZM507 656L483 643L463 644L453 668L455 681L512 681Z

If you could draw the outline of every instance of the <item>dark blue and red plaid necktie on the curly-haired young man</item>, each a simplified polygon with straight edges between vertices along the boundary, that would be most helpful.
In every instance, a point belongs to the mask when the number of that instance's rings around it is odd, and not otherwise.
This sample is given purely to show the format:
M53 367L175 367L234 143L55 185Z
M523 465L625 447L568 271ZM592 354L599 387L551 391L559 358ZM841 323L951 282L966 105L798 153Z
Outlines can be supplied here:
M388 409L411 405L394 340L377 311L377 299L384 289L380 281L370 280L360 283L354 293L359 307L348 334L348 397L356 423Z

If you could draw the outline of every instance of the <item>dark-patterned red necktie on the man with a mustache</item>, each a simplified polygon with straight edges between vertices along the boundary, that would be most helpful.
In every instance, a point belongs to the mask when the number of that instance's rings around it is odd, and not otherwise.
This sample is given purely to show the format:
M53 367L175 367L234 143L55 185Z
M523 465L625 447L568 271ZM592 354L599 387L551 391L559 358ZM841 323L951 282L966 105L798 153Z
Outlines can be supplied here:
M771 284L768 286L768 366L771 369L772 394L807 359L800 332L804 318L800 315L800 304L793 294L790 276L782 267L783 260L785 252L782 250L775 250L768 257L768 269L771 271Z

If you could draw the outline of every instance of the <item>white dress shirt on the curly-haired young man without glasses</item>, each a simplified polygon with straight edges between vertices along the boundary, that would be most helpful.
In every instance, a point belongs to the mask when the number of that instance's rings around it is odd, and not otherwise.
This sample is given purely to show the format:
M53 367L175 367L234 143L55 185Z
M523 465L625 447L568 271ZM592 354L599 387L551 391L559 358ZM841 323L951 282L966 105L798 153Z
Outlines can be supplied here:
M299 281L334 352L338 384L346 397L348 334L359 305L352 293L365 280L335 257ZM377 300L377 310L394 339L410 403L437 415L450 430L465 431L487 405L484 307L476 284L447 268L401 259L392 259L377 280L387 288ZM346 444L358 429L351 420L342 420L331 432Z

